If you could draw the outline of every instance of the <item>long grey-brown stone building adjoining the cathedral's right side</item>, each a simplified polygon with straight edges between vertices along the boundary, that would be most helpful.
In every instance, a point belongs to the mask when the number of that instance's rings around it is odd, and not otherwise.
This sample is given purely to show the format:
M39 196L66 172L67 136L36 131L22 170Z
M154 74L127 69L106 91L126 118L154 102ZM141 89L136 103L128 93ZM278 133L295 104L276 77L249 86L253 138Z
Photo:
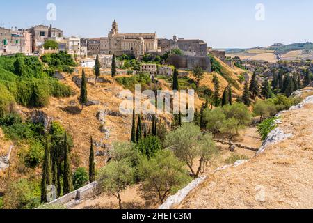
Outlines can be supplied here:
M160 38L158 46L161 52L180 49L186 56L207 56L207 43L199 39L184 39L173 36L172 40Z

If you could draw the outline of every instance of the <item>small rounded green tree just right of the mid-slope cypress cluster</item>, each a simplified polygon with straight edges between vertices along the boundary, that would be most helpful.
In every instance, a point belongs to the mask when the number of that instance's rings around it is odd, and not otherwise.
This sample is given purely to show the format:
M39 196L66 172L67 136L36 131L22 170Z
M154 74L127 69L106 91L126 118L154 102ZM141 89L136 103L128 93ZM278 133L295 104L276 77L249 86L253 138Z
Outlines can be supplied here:
M223 127L223 122L226 119L223 109L220 107L211 111L205 109L204 118L207 121L207 130L209 130L213 134L213 138L215 138L216 134L220 132L220 128Z

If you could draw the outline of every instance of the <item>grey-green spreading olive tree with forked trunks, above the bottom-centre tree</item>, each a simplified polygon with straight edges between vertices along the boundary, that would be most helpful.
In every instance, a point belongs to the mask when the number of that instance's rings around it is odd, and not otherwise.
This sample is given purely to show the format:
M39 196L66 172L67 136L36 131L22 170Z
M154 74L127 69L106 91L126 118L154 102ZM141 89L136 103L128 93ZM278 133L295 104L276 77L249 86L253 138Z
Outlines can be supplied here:
M193 123L185 123L168 133L166 146L172 149L179 160L186 163L193 178L197 178L205 165L218 153L211 134L203 134L200 127Z

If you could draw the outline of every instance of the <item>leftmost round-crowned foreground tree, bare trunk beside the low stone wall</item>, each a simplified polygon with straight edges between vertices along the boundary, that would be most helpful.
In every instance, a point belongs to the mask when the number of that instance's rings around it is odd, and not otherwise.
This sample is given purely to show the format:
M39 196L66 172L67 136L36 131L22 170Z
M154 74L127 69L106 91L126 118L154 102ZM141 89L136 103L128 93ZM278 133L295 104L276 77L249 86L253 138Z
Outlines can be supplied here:
M120 193L134 183L135 170L127 159L111 161L99 172L99 181L106 194L115 196L122 209Z

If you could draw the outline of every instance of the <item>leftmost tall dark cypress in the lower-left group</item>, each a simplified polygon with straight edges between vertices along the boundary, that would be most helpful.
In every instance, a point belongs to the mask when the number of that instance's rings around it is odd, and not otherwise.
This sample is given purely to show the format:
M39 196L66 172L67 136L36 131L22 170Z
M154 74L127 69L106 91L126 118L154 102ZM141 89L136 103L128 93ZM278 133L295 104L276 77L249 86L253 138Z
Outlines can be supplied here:
M52 183L51 173L51 157L48 141L45 146L45 158L42 164L42 180L41 180L41 202L47 202L47 186Z

